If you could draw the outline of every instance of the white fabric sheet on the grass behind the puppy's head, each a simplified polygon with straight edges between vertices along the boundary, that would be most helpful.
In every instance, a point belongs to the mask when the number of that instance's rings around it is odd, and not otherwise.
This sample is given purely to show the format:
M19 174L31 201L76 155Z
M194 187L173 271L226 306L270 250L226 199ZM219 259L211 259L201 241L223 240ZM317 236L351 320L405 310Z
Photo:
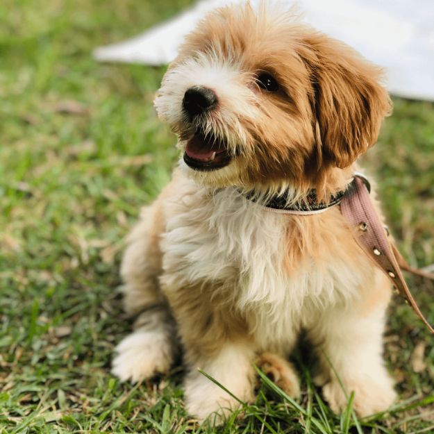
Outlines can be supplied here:
M231 0L203 0L169 22L119 44L100 47L100 61L163 65L205 13ZM256 1L251 1L256 3ZM279 3L292 5L294 1ZM392 94L434 101L434 0L299 0L303 21L347 42L385 67Z

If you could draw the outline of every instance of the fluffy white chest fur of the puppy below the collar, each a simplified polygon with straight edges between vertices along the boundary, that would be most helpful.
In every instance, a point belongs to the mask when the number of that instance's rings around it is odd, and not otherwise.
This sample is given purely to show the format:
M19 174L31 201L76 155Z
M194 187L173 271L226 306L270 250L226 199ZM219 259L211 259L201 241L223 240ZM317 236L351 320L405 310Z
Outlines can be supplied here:
M322 217L281 215L233 188L211 194L192 182L183 187L185 194L172 201L167 212L165 273L172 274L172 285L178 287L219 282L229 288L233 307L243 312L251 332L264 344L285 340L285 333L306 325L308 318L350 301L365 283L366 274L355 272L349 252L340 246L337 238L342 234L334 236L335 228L327 228L326 222L315 226L320 252L306 249L297 267L285 267L285 249L297 244L288 240L303 236L303 231L288 231L289 219L318 222ZM351 237L348 231L344 234Z

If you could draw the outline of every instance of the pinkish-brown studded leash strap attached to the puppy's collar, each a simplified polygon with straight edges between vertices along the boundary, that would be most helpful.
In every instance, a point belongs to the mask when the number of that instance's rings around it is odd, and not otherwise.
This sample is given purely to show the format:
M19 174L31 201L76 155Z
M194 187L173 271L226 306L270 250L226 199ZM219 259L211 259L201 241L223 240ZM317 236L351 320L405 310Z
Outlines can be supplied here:
M406 303L415 310L417 316L434 333L434 328L429 324L413 299L408 285L401 273L403 269L415 272L419 276L433 277L430 273L421 272L410 267L399 253L397 247L387 240L387 229L384 228L380 218L369 197L369 187L366 180L358 174L350 184L347 194L344 195L340 209L353 230L353 236L367 256L385 273L392 281L397 292L406 299Z

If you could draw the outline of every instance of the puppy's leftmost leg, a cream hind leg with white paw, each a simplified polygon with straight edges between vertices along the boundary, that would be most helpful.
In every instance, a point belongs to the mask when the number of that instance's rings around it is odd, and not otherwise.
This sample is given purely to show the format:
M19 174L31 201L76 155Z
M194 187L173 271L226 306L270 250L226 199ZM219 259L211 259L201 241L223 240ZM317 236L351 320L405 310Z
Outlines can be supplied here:
M142 213L128 237L122 261L124 306L130 315L140 313L135 331L120 342L112 362L112 373L122 381L137 382L167 372L176 352L176 326L160 292L160 249L162 219L158 202Z

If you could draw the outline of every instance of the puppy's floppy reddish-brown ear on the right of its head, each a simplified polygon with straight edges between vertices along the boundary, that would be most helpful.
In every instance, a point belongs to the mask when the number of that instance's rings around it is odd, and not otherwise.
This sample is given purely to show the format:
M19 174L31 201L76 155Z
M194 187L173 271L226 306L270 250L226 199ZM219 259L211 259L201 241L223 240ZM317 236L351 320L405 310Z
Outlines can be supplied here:
M312 111L322 161L344 168L376 142L391 101L383 72L347 45L322 33L303 40L310 68Z

